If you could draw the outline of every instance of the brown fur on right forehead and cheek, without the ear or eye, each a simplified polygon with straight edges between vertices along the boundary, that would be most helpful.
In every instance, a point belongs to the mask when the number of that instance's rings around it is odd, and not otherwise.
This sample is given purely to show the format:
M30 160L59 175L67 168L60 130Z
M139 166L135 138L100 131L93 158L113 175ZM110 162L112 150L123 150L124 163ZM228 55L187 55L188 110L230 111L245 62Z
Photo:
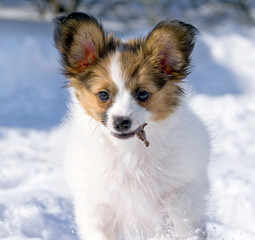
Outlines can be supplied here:
M133 96L138 89L150 93L146 102L138 103L152 113L152 119L163 120L171 114L179 104L182 91L162 74L157 67L158 59L153 56L145 58L142 49L138 49L136 53L123 51L120 60L126 86Z

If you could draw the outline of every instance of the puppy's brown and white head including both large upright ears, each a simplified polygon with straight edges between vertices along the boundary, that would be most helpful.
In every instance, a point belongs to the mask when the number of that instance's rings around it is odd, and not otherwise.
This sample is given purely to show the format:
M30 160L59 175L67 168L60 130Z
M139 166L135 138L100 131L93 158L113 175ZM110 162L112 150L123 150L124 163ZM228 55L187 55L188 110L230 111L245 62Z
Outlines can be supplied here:
M115 137L129 138L178 106L177 83L188 75L196 28L162 21L145 38L123 43L84 13L56 18L55 24L69 85L87 114Z

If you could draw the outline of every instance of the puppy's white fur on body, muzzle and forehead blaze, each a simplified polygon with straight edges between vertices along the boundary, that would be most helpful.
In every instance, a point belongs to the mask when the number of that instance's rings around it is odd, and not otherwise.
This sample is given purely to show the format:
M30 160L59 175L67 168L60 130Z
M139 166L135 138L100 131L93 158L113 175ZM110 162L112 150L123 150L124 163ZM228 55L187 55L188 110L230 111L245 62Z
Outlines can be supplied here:
M116 59L112 78L122 89L124 85L116 80L121 78ZM117 105L121 106L125 94L118 96ZM112 115L117 105L112 106ZM132 115L136 107L127 105L123 114L148 123L148 148L136 137L116 139L111 127L88 116L72 96L65 169L81 239L134 239L136 235L153 240L205 239L200 230L210 152L206 127L185 99L167 119L157 122L146 110L142 117Z

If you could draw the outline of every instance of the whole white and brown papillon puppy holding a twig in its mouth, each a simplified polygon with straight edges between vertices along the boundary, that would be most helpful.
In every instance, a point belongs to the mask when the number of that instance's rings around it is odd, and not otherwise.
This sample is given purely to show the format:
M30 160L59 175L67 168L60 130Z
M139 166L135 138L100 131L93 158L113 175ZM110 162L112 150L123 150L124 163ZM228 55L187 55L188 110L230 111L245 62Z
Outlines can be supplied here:
M197 29L165 20L123 42L85 13L54 22L80 239L206 239L210 136L181 87Z

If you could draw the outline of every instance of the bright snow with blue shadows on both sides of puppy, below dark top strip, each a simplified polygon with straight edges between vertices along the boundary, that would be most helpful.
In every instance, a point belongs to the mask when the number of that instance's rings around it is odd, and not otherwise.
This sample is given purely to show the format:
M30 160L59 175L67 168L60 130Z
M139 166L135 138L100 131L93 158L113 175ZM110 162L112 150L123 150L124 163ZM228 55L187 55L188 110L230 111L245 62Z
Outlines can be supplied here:
M0 20L0 29L0 239L77 240L59 165L67 94L52 26ZM209 240L254 240L255 29L200 32L189 81L215 133Z

